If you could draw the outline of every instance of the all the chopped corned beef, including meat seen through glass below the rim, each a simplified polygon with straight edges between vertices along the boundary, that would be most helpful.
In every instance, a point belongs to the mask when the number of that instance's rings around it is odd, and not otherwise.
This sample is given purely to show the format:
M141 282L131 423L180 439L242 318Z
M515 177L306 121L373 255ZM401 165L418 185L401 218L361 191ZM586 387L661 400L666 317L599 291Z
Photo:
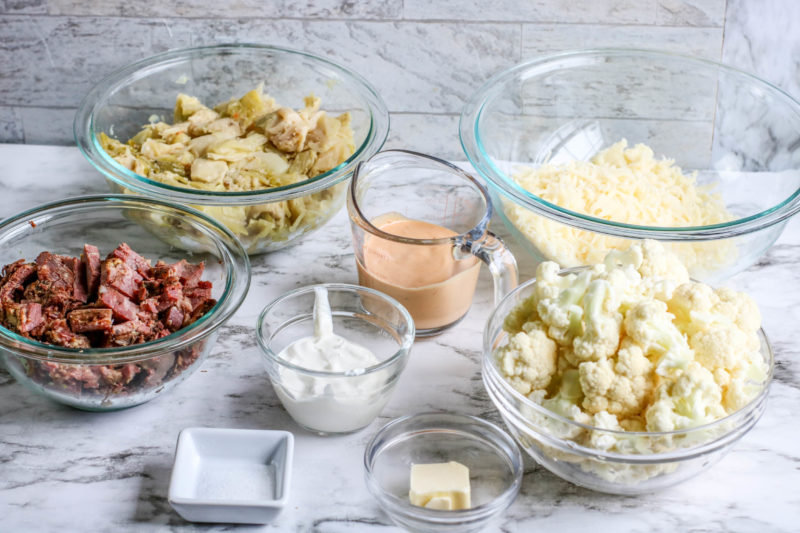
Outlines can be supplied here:
M214 307L204 264L150 261L120 244L107 258L90 244L80 258L42 252L20 259L0 277L0 325L41 342L68 348L121 347L160 339ZM31 361L27 372L42 385L75 394L129 394L160 386L200 356L179 349L122 365Z

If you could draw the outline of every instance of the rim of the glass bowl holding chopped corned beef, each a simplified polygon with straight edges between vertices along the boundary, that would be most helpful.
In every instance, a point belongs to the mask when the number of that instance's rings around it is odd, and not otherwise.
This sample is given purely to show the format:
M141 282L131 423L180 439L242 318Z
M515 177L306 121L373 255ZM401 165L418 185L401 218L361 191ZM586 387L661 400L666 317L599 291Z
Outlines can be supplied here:
M244 302L250 286L251 269L249 257L241 242L227 227L201 211L166 200L124 194L73 196L26 209L0 221L0 237L6 231L20 226L39 226L34 222L37 217L91 210L95 207L136 207L149 212L188 215L215 232L215 241L228 254L227 260L224 260L225 288L217 303L189 326L160 339L141 344L111 348L68 348L29 339L0 326L0 347L7 349L13 355L58 363L99 365L134 363L185 348L207 337L223 325ZM241 280L237 279L240 275L239 270L243 270Z

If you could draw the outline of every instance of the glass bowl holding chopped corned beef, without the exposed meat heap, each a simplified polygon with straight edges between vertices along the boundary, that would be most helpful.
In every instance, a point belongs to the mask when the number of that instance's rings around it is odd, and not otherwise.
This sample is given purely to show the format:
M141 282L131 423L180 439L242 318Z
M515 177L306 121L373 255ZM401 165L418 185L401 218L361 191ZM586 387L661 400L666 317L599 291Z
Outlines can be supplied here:
M148 223L157 218L159 224ZM167 244L175 233L180 249ZM84 196L43 205L0 224L0 265L33 261L43 251L77 257L84 243L101 257L121 242L153 261L205 262L217 304L161 339L120 348L74 349L0 327L0 359L18 382L51 400L90 411L131 407L166 393L197 370L220 326L244 300L250 262L224 226L193 209L136 196ZM185 249L190 248L192 253ZM130 381L115 380L120 373Z

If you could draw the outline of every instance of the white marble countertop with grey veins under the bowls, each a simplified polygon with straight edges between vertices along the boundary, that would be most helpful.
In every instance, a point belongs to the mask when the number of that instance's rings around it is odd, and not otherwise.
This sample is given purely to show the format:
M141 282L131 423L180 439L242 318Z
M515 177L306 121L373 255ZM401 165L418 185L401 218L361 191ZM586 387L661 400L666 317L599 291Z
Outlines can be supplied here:
M0 217L6 217L46 201L107 189L76 148L0 145L0 191ZM517 257L521 278L528 279L533 265L521 251ZM796 219L757 265L729 282L759 303L777 364L764 417L720 463L682 485L633 498L573 486L526 458L519 497L488 531L797 531L799 261ZM452 410L498 420L479 365L491 283L483 272L474 305L457 328L415 343L378 420L353 435L322 438L300 429L281 407L263 370L253 327L264 304L287 290L356 279L347 219L340 212L298 245L254 258L250 293L222 328L203 367L168 395L125 411L64 407L0 370L0 530L400 531L364 485L364 446L389 420L419 411ZM198 525L172 510L166 495L175 444L180 430L191 426L294 433L292 492L276 522L263 528Z

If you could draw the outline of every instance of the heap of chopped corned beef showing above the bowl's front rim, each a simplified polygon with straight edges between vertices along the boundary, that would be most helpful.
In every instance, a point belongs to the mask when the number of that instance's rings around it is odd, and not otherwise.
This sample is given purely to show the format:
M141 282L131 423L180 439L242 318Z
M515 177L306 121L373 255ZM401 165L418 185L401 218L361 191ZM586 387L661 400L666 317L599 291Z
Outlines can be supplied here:
M6 265L0 325L60 346L122 346L177 331L216 303L200 280L203 263L151 267L125 243L100 257L86 244L80 258L42 252L35 263Z

